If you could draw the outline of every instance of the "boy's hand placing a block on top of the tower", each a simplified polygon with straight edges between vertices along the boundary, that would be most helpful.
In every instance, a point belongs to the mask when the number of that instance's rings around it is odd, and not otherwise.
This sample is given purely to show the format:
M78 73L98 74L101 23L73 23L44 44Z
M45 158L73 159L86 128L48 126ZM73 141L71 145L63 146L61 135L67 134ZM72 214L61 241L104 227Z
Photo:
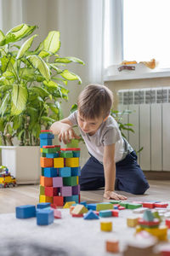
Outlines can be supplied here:
M71 139L80 139L79 136L75 133L75 131L72 130L71 127L65 127L65 129L62 129L62 131L59 132L59 142L63 141L63 143L71 143Z

